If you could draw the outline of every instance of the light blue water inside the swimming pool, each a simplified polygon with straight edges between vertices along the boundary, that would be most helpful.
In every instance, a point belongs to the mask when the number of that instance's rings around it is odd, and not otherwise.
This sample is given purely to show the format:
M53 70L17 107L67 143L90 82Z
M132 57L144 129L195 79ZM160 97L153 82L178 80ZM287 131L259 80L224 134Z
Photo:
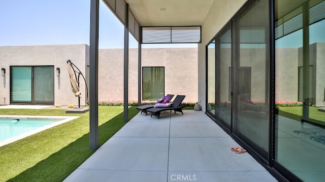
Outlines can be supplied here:
M59 120L45 119L1 119L0 118L0 141L27 133L32 130L58 122Z

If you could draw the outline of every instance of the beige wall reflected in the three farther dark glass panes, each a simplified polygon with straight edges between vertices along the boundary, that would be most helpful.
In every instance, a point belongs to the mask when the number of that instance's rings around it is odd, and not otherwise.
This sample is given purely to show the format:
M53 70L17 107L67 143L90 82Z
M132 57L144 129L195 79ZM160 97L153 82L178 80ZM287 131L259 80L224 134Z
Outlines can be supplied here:
M215 55L214 49L210 48L209 59L212 60L209 66L215 66ZM220 57L220 90L216 93L220 96L220 102L229 101L230 97L230 70L231 65L231 49L230 48L221 48L221 57ZM256 56L250 56L256 55ZM250 67L251 75L250 75L250 99L253 101L263 101L265 100L265 92L268 89L268 83L266 80L269 79L269 75L266 72L266 59L265 59L265 49L264 48L242 48L240 50L240 67ZM211 79L208 80L208 85L211 85L211 88L215 86L215 80L213 78L214 71L211 69L208 72L209 75L212 76ZM208 91L208 102L214 101L214 91Z

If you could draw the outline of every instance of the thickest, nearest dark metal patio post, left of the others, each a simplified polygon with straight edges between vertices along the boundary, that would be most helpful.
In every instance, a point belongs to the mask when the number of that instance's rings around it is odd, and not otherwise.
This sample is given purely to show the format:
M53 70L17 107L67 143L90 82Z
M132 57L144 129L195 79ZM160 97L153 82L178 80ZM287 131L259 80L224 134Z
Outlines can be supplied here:
M90 2L90 47L89 47L89 143L96 150L98 142L98 32L99 0Z

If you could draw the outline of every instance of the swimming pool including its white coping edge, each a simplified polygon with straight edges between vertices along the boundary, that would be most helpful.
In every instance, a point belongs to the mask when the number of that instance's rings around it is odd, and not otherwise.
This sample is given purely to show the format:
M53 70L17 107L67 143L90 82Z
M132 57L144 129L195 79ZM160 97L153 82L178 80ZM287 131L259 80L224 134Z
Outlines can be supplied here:
M78 117L0 116L0 147Z

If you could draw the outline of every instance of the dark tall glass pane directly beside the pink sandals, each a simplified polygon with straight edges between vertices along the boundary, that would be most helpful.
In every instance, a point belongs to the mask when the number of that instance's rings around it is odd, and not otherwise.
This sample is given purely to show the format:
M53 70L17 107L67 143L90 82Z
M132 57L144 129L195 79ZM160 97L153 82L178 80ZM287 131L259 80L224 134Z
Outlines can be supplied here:
M233 132L269 160L269 1L256 1L234 20ZM237 50L237 51L236 51Z

